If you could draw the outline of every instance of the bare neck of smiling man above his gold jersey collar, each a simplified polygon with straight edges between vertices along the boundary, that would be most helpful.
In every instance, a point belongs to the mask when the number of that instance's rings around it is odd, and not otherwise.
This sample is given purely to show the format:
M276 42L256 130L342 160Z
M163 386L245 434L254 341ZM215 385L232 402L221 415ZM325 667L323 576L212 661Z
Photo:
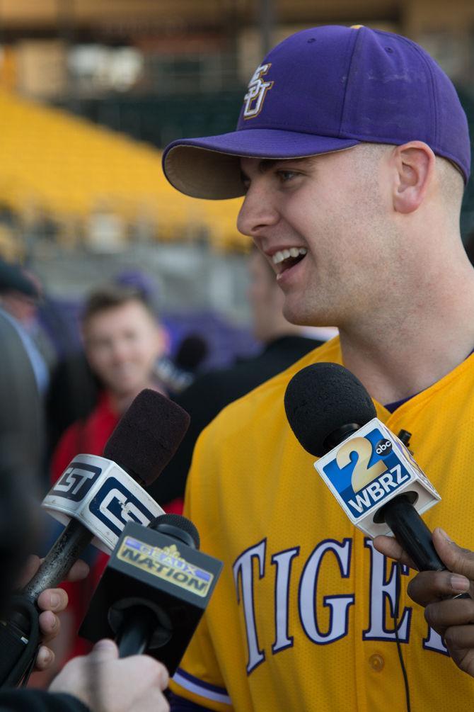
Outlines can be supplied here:
M387 310L383 323L369 319L340 329L344 365L379 403L428 388L474 349L474 273L453 285L456 293L445 298L417 295L419 308Z

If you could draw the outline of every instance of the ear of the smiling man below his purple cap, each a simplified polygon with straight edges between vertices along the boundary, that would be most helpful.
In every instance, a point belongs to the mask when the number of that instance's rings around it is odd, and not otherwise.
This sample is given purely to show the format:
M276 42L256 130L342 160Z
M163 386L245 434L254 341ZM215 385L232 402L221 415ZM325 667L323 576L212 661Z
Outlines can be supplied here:
M394 148L393 205L398 213L414 212L424 200L433 180L436 157L422 141L410 141Z

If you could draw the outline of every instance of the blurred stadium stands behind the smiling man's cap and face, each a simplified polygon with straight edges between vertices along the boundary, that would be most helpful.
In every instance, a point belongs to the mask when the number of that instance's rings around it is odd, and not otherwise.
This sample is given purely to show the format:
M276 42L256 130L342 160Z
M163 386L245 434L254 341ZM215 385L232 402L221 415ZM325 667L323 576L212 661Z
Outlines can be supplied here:
M56 355L79 345L85 294L124 272L153 293L170 352L191 328L206 334L205 365L252 351L239 201L178 194L161 148L232 130L266 49L331 22L421 43L472 125L474 6L464 0L2 1L0 256L41 281ZM473 228L471 184L466 239Z

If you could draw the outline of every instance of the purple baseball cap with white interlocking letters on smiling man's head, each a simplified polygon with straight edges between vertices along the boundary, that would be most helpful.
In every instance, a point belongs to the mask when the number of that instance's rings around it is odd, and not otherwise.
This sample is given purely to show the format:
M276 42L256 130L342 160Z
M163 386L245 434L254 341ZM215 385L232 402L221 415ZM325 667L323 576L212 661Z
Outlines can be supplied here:
M322 26L277 45L255 70L237 129L173 141L168 181L196 198L244 194L239 157L302 158L362 142L419 140L467 182L468 122L451 80L419 45L364 26Z

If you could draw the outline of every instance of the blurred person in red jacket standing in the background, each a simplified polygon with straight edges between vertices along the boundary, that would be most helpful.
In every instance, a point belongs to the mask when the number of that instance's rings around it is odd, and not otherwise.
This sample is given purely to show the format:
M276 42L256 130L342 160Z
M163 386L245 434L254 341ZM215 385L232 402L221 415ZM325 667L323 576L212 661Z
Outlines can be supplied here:
M102 455L114 427L141 390L163 392L153 372L163 353L165 337L156 315L138 290L111 285L92 293L82 312L81 330L87 361L102 383L102 392L90 415L73 423L61 436L51 462L52 483L77 454ZM182 503L171 503L166 509L181 513ZM70 607L62 621L64 632L59 644L63 649L57 651L63 662L90 649L90 644L77 638L76 633L108 560L107 555L96 550L93 556L87 581L67 585Z

